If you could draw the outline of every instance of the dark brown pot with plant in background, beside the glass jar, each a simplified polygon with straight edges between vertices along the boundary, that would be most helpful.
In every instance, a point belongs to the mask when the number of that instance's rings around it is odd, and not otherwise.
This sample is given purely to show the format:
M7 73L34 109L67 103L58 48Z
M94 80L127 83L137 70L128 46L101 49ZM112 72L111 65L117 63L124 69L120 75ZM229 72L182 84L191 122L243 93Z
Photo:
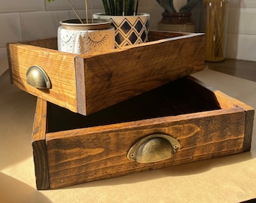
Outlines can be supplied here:
M158 29L172 32L194 32L195 25L191 20L191 11L200 0L156 0L164 12Z

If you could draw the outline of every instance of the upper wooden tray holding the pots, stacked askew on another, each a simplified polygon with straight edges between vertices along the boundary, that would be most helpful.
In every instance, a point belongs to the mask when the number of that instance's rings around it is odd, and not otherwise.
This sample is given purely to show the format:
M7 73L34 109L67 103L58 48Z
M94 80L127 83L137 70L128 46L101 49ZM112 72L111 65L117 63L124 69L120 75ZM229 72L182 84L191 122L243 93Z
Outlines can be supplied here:
M203 34L150 32L149 40L84 55L59 52L56 38L11 43L12 83L48 102L88 115L204 68ZM46 75L45 89L30 81L28 75L34 76L31 67L39 67Z

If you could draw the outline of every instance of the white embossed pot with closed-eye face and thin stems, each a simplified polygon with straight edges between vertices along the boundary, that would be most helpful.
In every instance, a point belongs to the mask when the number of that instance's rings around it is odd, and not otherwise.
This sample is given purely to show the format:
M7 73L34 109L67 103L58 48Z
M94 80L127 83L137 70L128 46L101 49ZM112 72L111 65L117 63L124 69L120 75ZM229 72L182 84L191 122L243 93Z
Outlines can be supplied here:
M54 0L47 0L52 1ZM114 27L111 26L111 21L89 19L88 0L85 0L86 18L81 19L72 2L68 1L78 19L59 22L58 50L81 54L114 49ZM91 6L93 7L93 0Z

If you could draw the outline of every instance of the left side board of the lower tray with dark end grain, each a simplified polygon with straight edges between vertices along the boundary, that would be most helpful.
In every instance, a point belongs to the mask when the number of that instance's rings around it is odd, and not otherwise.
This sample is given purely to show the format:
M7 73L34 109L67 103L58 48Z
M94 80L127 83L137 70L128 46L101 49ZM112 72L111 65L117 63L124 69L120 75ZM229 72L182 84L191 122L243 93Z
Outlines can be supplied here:
M32 132L32 148L37 189L49 189L50 186L47 147L45 141L46 123L47 104L43 99L38 98Z

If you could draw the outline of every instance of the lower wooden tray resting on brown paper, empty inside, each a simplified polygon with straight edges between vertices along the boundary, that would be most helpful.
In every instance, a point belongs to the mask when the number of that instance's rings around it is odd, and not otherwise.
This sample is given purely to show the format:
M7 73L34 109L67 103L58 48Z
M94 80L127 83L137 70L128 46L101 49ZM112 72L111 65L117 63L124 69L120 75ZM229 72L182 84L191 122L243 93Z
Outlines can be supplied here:
M38 98L32 135L37 188L242 153L251 147L253 117L248 105L190 76L87 117ZM152 141L160 144L146 150Z

